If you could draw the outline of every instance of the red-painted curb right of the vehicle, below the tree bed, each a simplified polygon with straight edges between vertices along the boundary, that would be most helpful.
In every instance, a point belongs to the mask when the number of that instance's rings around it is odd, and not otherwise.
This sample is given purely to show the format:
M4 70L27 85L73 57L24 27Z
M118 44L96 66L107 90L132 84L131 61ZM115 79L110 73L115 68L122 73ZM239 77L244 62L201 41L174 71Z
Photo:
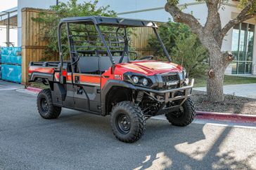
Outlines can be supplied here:
M231 113L196 111L196 118L207 119L207 120L229 121L229 122L256 123L256 115L241 115L241 114L231 114Z

